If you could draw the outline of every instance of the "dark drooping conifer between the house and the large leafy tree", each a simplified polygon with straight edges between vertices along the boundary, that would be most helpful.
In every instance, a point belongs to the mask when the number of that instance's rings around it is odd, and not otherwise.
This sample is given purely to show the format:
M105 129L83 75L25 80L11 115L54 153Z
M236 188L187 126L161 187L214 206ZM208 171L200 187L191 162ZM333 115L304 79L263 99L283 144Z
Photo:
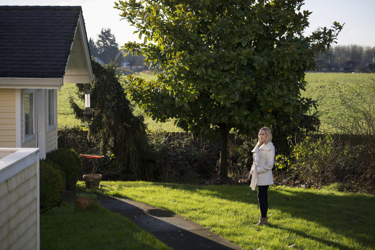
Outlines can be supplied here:
M93 85L77 84L78 96L91 92L92 114L85 115L72 97L69 102L77 119L89 125L89 139L97 143L100 152L110 160L104 169L109 179L153 179L150 148L147 142L143 116L134 116L133 107L126 98L116 75L113 62L101 66L92 58L96 80Z

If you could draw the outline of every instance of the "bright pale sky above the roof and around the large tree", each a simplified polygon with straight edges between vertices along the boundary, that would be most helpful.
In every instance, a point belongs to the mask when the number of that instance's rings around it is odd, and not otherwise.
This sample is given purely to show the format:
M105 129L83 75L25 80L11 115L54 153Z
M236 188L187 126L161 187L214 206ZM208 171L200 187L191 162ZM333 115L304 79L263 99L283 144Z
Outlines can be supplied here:
M121 20L120 11L114 9L113 0L0 0L0 5L50 5L82 6L88 39L94 41L102 28L111 29L116 42L121 46L128 41L139 41L133 34L134 28L126 20ZM310 35L318 27L330 28L334 21L344 24L337 45L357 44L375 46L375 0L305 0L303 10L313 12L309 17L310 27L305 35ZM121 20L121 21L120 21ZM0 34L1 38L1 34Z

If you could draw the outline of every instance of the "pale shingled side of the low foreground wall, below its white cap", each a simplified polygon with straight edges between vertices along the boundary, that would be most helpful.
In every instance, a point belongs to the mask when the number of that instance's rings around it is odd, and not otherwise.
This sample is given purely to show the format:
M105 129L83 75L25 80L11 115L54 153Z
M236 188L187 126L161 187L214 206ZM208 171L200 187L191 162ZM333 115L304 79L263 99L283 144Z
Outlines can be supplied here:
M36 163L0 184L0 249L36 249Z

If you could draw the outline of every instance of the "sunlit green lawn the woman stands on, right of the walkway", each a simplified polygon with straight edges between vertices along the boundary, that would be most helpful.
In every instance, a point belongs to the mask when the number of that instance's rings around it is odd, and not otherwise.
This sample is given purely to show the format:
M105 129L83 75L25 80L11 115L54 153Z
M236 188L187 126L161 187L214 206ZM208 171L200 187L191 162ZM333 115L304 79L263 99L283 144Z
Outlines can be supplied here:
M148 203L193 220L245 249L375 249L375 197L272 186L269 223L248 186L101 182L98 192Z

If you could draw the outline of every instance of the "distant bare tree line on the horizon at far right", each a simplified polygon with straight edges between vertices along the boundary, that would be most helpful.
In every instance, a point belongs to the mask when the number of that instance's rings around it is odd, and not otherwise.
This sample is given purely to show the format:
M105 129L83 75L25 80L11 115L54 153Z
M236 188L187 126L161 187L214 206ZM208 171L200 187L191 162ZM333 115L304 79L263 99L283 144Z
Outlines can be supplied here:
M369 70L375 71L375 46L336 45L327 52L319 53L316 62L318 67L324 67L331 63L345 63L350 60L357 61L360 64L368 64Z

